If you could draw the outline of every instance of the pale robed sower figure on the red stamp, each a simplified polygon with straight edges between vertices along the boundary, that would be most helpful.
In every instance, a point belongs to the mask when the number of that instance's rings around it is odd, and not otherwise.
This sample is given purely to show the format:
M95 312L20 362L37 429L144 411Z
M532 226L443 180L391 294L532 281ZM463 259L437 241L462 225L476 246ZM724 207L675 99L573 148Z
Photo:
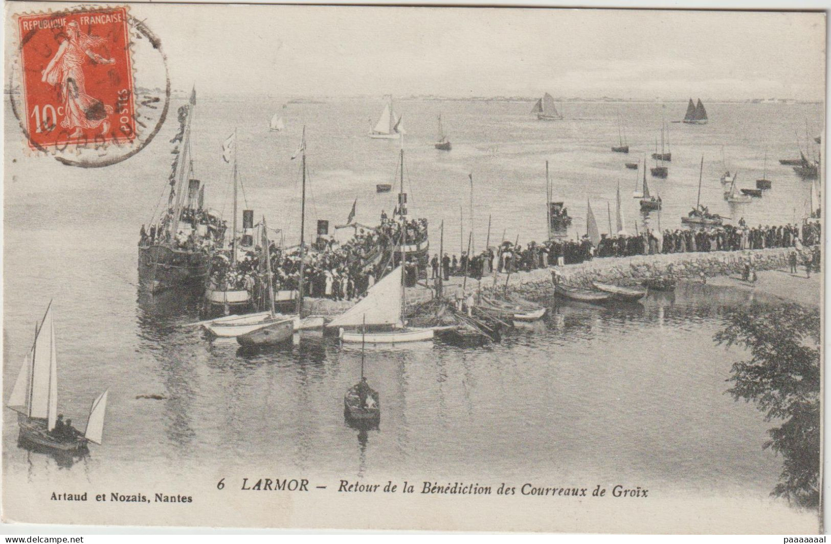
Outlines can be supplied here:
M71 138L99 125L102 125L101 133L106 134L110 130L107 115L113 113L113 108L86 94L83 62L86 56L101 64L115 64L116 60L106 59L92 51L95 47L101 47L106 39L81 32L75 21L66 25L66 36L68 39L61 42L52 61L42 71L41 81L59 86L64 109L61 126L68 130L75 129Z

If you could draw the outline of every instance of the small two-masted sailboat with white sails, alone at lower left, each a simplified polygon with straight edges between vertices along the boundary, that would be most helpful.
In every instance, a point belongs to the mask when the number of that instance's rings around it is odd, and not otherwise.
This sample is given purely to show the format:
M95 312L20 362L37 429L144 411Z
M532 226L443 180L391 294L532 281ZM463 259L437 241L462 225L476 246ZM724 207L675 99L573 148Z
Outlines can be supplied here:
M57 413L57 349L52 302L35 328L32 349L23 360L7 406L17 412L20 439L42 448L79 451L86 444L101 444L108 391L93 401L86 429L81 433Z

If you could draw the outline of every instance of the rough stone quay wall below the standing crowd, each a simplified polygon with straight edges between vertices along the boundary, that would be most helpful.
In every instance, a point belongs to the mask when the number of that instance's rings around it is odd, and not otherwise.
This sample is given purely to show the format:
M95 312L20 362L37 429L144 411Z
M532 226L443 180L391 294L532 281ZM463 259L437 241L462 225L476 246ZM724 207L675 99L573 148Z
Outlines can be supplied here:
M756 270L773 270L788 266L792 247L769 249L745 249L729 252L682 252L635 255L632 257L603 257L563 267L538 268L530 272L514 272L508 278L508 291L522 297L542 299L553 295L551 272L557 271L560 281L575 287L592 287L592 282L612 283L622 286L641 285L644 280L661 277L697 278L737 275L751 262ZM482 292L502 292L506 274L497 274L496 287L492 276L483 277ZM433 280L428 280L432 286ZM465 292L475 292L477 282L468 278ZM462 278L451 277L445 282L445 297L455 298L462 291ZM433 290L427 287L408 287L407 306L430 301ZM304 315L337 316L351 308L355 301L332 301L325 298L304 299Z

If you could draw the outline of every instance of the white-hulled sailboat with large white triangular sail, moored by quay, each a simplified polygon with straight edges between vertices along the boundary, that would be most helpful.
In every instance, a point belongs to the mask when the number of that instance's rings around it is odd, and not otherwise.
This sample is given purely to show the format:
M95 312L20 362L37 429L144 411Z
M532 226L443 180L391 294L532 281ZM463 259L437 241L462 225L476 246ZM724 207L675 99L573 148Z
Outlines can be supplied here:
M406 193L404 192L404 146L401 146L401 191L398 194L399 220L401 221L400 264L392 272L381 278L366 292L366 297L349 310L337 316L329 327L338 327L338 336L342 342L369 342L371 344L397 344L430 340L434 331L431 328L407 327L404 321L405 289L404 275L406 252ZM366 333L366 326L380 328L381 331ZM361 333L346 331L346 327L361 326Z

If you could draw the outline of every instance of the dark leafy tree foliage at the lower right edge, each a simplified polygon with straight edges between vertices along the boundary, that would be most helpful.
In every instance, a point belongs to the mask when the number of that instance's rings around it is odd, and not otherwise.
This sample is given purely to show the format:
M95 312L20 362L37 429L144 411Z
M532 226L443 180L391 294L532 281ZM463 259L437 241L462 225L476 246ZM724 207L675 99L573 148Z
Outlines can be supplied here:
M804 507L819 507L820 317L797 304L731 309L715 335L726 346L744 346L750 360L735 363L728 390L733 399L753 401L765 421L783 421L768 430L772 448L784 458L771 492Z

